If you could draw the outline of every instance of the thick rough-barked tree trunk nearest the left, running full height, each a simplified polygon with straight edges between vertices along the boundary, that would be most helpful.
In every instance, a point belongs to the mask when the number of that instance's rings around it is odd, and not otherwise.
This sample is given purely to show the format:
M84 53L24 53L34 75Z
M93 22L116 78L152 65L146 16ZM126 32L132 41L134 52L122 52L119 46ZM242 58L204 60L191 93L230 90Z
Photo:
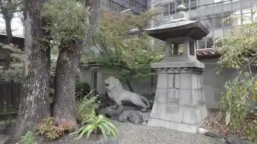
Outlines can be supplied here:
M48 54L42 38L45 20L41 16L41 0L25 0L25 68L22 79L19 113L14 135L5 143L16 143L27 131L50 114Z

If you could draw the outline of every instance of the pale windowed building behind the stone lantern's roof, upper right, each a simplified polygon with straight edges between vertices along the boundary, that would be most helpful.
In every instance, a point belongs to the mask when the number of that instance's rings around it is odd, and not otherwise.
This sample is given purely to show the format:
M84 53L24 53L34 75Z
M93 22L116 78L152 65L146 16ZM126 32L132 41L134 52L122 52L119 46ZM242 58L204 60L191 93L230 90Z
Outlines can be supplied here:
M173 19L177 5L186 6L186 13L191 20L202 20L210 30L204 39L198 40L197 49L221 47L215 44L215 37L222 36L233 26L254 22L256 15L252 7L256 0L152 0L152 7L161 7L162 12L157 16L155 25L162 25ZM224 22L226 17L236 14L241 18ZM244 20L242 20L244 17ZM245 17L247 19L245 19Z

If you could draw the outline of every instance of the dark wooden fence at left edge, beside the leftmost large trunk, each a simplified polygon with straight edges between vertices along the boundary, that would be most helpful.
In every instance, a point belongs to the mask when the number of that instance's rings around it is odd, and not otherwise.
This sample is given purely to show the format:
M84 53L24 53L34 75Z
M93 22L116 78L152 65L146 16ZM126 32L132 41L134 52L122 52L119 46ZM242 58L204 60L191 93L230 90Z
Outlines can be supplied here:
M20 95L21 84L0 83L0 117L17 113Z

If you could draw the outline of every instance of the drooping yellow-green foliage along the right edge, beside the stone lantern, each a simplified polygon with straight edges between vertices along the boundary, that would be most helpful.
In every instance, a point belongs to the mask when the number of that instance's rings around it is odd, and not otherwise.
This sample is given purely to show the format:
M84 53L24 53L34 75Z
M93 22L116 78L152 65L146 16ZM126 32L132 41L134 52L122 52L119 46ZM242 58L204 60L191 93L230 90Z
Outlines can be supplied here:
M216 43L222 43L218 64L221 68L234 68L235 78L226 82L225 92L222 95L220 109L225 114L231 113L229 129L234 133L245 122L246 116L252 112L249 100L255 99L256 77L252 71L256 66L256 28L257 22L232 28L223 37L216 39ZM253 94L253 95L252 95ZM252 128L253 127L253 128ZM256 126L245 126L243 135L253 140L256 137ZM256 139L255 139L256 140Z

